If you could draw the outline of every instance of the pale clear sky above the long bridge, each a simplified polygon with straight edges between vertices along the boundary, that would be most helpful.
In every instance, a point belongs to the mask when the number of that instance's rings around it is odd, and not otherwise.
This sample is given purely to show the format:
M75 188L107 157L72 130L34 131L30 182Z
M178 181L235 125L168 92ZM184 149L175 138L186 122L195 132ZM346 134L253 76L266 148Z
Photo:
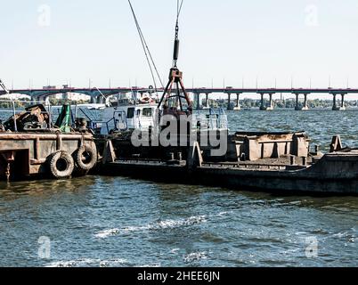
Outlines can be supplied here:
M161 77L176 0L132 0ZM152 85L127 0L0 0L0 78L14 88ZM188 87L358 87L356 0L184 0ZM330 79L329 79L330 78Z

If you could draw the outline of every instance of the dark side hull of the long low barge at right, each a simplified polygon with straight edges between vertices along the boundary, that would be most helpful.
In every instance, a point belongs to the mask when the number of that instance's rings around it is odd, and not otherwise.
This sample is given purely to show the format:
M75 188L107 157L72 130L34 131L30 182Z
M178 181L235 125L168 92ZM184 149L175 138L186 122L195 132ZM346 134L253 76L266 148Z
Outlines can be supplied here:
M185 165L163 162L116 161L102 166L107 175L128 175L167 183L227 187L238 191L280 194L358 195L358 153L334 153L311 167L297 170L246 170L238 167Z

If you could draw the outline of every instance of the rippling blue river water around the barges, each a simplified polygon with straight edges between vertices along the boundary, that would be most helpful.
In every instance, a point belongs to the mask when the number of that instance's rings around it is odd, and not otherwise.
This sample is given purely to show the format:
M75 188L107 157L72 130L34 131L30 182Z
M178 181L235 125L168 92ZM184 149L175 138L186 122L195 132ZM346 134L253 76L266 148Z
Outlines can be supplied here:
M321 149L334 134L358 145L358 111L243 110L228 118L232 130L305 130ZM358 266L358 197L107 176L0 189L0 266Z

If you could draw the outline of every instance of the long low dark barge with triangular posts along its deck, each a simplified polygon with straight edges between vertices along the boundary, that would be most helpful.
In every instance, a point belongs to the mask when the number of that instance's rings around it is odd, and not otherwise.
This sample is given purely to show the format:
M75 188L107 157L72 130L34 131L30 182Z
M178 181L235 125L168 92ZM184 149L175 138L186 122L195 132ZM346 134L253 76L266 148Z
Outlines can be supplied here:
M185 160L118 159L111 142L103 152L100 171L166 183L227 187L238 191L278 194L358 194L358 150L334 151L308 158L285 156L256 161L205 161L199 143Z

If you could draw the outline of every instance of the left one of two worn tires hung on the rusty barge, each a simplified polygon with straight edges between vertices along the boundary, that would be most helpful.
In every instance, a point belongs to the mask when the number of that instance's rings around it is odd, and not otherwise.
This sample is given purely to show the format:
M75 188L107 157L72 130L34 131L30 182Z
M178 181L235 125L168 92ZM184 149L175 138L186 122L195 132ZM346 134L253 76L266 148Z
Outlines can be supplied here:
M68 178L75 169L75 161L67 151L56 151L48 159L50 173L57 179Z

